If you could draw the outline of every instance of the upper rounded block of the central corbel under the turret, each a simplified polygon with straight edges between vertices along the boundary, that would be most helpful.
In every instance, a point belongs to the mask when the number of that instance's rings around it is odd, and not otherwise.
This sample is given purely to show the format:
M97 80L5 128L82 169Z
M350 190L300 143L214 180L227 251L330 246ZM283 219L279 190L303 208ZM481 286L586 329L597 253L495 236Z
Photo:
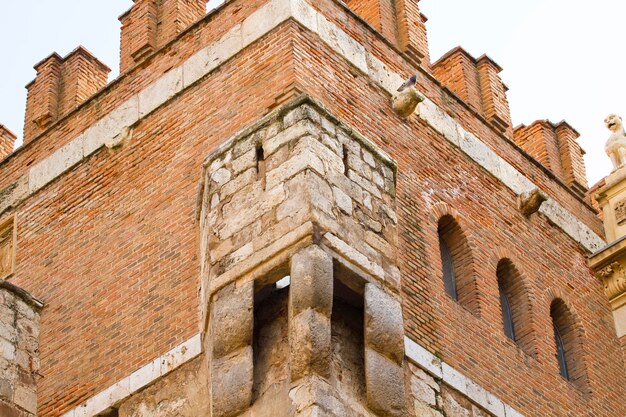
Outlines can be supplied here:
M309 246L291 258L289 299L291 316L313 309L330 317L333 308L333 261L319 246Z

